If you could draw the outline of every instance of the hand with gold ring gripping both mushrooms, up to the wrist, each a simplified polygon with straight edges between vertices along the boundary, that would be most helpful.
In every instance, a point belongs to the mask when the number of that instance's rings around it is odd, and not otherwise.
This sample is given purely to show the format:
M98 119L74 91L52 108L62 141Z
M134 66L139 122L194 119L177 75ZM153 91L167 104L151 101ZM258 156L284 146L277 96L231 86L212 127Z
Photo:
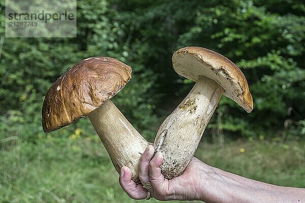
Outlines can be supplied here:
M134 199L145 199L147 189L143 185L150 182L152 187L148 189L151 197L158 200L196 200L200 197L200 171L209 170L208 165L193 157L185 172L171 180L165 179L161 174L160 165L163 163L161 152L157 152L155 157L154 147L149 145L142 154L139 162L139 179L142 184L136 185L131 180L131 171L123 166L120 171L119 183L124 191ZM150 160L151 159L151 160Z

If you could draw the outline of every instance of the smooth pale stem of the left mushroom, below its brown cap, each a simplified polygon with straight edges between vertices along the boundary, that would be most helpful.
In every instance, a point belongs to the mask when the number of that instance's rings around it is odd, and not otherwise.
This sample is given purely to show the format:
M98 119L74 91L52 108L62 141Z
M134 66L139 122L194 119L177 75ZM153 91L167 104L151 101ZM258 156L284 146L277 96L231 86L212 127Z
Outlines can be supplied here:
M87 115L117 172L127 166L132 172L132 180L140 183L138 163L148 143L116 108L110 99Z

